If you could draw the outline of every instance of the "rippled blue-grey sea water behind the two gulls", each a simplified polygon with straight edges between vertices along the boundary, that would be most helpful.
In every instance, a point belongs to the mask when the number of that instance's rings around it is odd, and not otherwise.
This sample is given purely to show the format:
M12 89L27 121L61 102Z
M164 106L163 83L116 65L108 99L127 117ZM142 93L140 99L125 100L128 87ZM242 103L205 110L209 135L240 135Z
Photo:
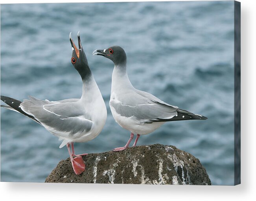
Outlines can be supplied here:
M69 33L81 41L107 105L101 134L76 153L125 145L129 132L109 109L113 63L92 56L120 45L137 89L203 114L206 121L165 123L138 145L175 145L199 158L214 185L234 183L234 3L140 2L1 5L1 95L18 100L80 98ZM34 121L1 109L1 181L43 182L68 158Z

